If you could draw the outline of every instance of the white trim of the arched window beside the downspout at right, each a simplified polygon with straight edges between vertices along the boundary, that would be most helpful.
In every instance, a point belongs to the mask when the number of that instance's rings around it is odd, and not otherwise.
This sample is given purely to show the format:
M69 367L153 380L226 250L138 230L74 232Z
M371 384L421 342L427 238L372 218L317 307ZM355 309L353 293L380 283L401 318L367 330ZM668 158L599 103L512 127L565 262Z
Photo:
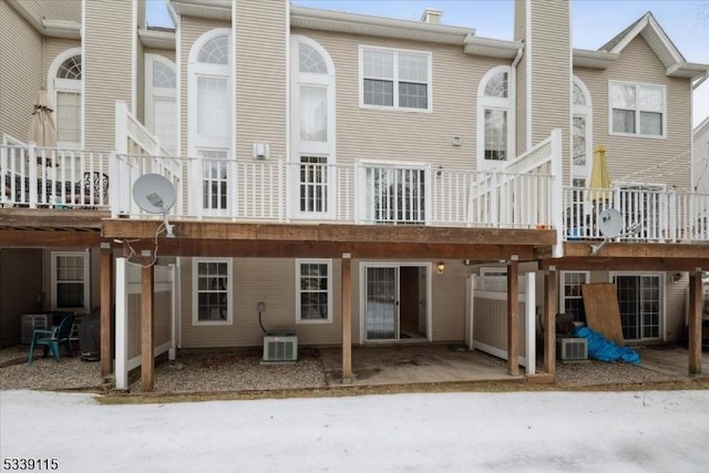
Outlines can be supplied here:
M507 73L507 97L485 96L487 82L501 72ZM514 161L515 150L515 84L514 73L508 65L497 65L483 75L477 85L477 171L493 171L505 163ZM485 160L485 110L504 110L507 112L507 160Z

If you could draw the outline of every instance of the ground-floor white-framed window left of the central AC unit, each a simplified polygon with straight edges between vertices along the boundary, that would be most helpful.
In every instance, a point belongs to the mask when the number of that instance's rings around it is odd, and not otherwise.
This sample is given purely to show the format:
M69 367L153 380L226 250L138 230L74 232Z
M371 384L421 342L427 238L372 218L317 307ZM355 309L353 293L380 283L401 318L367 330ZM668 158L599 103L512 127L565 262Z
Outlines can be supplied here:
M194 325L230 325L232 260L195 259L192 266Z

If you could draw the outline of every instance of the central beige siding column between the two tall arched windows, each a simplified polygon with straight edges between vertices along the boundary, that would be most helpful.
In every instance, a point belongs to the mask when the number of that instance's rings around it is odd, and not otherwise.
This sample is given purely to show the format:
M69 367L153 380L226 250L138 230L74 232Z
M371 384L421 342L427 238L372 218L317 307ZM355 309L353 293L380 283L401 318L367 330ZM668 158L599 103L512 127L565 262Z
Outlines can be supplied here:
M251 143L286 154L286 1L237 1L236 157L253 160Z

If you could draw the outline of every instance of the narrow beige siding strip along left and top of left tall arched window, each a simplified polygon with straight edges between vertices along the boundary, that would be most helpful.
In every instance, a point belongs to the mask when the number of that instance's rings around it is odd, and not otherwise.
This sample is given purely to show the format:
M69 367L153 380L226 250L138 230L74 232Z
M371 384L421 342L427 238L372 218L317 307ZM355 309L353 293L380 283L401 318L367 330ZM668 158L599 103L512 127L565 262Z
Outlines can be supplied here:
M181 28L177 32L181 34L177 43L181 50L177 51L182 63L182 70L177 73L181 74L179 81L182 83L182 90L177 91L179 101L181 123L179 123L179 136L182 155L187 156L189 153L189 52L195 41L207 31L212 31L217 28L230 28L229 22L205 20L194 17L182 17Z

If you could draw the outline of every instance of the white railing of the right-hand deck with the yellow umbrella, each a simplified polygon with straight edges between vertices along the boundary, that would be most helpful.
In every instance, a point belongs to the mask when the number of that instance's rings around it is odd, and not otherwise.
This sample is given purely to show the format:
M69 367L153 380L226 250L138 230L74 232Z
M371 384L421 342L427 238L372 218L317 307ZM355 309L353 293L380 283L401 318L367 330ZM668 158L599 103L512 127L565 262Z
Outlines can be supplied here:
M623 216L619 241L708 241L709 194L654 189L564 188L564 239L602 239L600 214Z

